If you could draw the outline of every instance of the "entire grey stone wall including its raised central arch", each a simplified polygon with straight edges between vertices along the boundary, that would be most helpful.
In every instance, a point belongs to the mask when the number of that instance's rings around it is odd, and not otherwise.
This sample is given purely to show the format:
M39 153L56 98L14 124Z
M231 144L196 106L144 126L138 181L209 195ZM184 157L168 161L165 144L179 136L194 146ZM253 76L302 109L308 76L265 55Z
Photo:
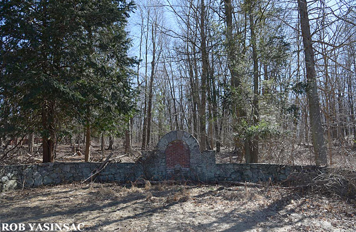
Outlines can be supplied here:
M177 144L184 146L175 146ZM172 147L174 149L171 149ZM179 149L182 149L182 152ZM172 169L173 166L167 167L169 161L167 155L170 159L170 155L181 154L186 156L174 158L176 162L174 169ZM100 163L92 162L54 162L0 166L0 192L22 187L82 181L90 177L99 165ZM216 163L215 151L200 151L199 144L192 135L178 130L171 131L162 137L156 150L145 153L137 163L108 163L97 181L190 179L202 182L266 182L270 180L278 182L287 179L293 172L324 171L325 169L315 166Z

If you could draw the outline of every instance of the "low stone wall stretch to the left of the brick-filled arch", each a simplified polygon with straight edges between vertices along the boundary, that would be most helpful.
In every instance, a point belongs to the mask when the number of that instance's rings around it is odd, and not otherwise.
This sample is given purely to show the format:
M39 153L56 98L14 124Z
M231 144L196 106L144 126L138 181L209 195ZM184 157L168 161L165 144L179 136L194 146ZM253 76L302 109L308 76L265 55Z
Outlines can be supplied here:
M0 192L22 187L71 183L90 177L100 163L54 162L0 166ZM99 181L135 181L144 178L135 163L109 163L98 176Z

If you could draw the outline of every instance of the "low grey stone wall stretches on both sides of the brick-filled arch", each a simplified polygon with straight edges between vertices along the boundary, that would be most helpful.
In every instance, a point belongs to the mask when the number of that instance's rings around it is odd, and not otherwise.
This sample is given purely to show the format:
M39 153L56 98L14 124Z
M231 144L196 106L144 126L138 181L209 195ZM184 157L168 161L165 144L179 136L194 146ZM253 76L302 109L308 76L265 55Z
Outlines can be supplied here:
M0 166L0 192L22 187L37 187L60 183L72 183L90 177L100 163L55 162L31 165ZM156 168L154 168L156 167ZM109 163L97 181L127 182L138 179L164 180L172 176L155 175L157 166L143 163ZM282 165L269 163L215 163L215 152L204 151L200 159L191 163L189 179L202 182L247 181L280 182L293 172L323 172L316 166Z

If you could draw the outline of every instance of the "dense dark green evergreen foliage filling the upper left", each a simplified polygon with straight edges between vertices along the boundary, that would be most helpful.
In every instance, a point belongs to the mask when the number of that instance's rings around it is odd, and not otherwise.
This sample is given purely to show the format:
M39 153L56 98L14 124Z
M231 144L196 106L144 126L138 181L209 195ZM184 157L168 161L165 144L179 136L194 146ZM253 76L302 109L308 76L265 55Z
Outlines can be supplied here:
M75 121L108 130L127 118L135 60L127 56L125 26L133 7L124 0L2 1L2 136L30 127L42 135L66 131Z

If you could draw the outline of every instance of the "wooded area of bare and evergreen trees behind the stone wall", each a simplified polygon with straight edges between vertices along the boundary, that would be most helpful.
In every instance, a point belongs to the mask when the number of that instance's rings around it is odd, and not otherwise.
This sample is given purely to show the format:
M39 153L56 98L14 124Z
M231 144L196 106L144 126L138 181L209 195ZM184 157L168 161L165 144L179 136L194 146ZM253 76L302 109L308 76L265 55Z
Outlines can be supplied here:
M230 162L355 159L353 0L3 1L0 35L0 163L178 129Z

